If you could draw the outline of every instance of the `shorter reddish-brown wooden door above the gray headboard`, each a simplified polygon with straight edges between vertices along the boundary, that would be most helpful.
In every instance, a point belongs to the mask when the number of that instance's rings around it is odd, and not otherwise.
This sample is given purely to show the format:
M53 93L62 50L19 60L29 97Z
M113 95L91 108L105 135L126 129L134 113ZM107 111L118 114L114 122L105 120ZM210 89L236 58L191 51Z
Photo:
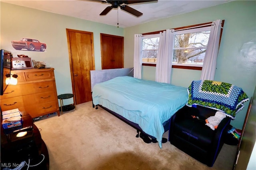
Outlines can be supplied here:
M102 69L124 67L124 37L100 34Z

